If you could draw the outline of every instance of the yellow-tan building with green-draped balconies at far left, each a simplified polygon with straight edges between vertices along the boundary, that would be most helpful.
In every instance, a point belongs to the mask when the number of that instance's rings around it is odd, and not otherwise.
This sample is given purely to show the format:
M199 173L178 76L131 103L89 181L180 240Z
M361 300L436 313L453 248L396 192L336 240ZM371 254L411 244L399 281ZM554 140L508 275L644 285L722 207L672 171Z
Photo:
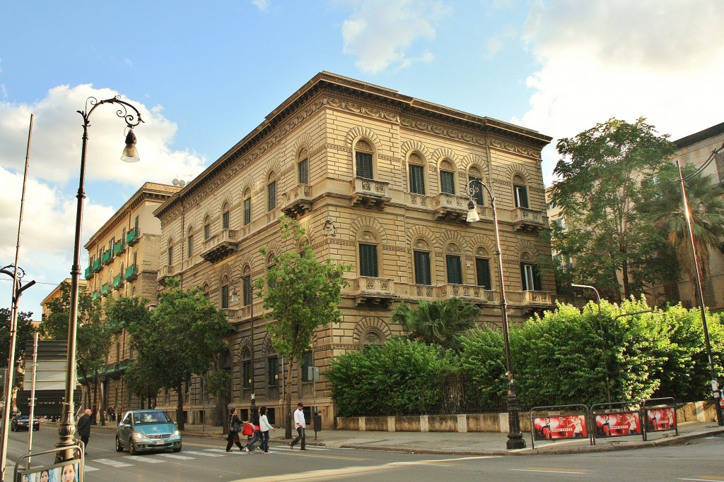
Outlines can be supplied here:
M87 290L94 299L140 296L156 301L161 223L153 211L180 188L147 182L93 234L85 244ZM133 351L126 330L113 335L101 370L98 410L114 407L117 414L138 408L123 383ZM85 387L84 387L85 390ZM86 400L85 395L83 400Z

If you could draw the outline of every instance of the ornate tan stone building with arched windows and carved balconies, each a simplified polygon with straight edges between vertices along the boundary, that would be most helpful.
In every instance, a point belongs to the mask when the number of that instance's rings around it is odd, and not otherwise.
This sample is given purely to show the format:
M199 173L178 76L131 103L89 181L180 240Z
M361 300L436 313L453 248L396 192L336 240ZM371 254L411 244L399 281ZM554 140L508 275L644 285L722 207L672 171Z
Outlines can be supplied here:
M316 404L332 426L329 358L400 334L392 307L458 296L479 304L481 323L500 322L492 210L466 223L465 188L492 186L500 224L511 322L550 306L555 281L536 259L550 257L538 231L548 226L540 152L551 138L530 129L411 98L395 90L317 74L155 214L161 220L159 281L203 286L226 309L232 406L277 410L285 374L271 348L261 299L251 285L269 254L295 249L279 236L281 215L296 218L319 260L353 265L342 291L342 321L320 328L292 400ZM235 296L236 295L236 296ZM235 301L238 300L238 301ZM306 366L321 377L309 380ZM187 420L210 421L215 400L201 380L188 387ZM173 395L159 403L173 410Z

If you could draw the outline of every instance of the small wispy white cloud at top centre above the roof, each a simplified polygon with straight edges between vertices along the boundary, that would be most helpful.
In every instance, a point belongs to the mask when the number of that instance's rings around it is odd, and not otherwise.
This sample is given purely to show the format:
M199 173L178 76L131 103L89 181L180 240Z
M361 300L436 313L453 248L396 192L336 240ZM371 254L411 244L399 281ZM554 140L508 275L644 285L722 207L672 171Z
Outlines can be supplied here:
M342 24L343 52L357 57L355 65L365 73L382 72L390 66L405 68L431 61L432 53L410 53L418 40L435 37L434 24L450 9L434 0L364 0Z

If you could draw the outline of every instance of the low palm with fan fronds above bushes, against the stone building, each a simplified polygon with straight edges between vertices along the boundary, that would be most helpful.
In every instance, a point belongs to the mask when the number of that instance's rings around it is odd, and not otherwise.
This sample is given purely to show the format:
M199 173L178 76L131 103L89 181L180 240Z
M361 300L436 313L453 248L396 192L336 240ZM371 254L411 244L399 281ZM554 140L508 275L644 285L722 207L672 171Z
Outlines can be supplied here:
M475 327L481 310L474 304L466 304L460 298L449 300L418 300L416 308L408 304L395 306L390 315L395 323L403 326L411 340L427 345L438 345L443 350L460 351L463 335Z

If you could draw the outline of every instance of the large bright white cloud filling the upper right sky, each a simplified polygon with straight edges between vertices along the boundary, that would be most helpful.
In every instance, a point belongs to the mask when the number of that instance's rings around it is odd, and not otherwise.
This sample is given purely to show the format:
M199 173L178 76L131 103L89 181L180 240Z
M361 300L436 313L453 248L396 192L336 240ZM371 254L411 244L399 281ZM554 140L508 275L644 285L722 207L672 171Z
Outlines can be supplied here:
M536 4L526 41L540 68L527 81L534 93L519 122L560 138L611 117L644 116L674 139L720 123L722 17L719 0ZM556 159L547 147L544 176Z

